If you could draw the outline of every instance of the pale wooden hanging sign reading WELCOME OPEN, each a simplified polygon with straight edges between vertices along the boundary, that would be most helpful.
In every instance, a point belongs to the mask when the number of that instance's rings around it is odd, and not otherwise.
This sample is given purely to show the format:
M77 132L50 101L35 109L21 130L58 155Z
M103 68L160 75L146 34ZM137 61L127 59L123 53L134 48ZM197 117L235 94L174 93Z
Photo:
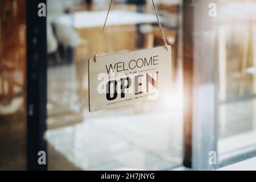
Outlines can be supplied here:
M157 99L171 81L171 46L89 59L89 111Z

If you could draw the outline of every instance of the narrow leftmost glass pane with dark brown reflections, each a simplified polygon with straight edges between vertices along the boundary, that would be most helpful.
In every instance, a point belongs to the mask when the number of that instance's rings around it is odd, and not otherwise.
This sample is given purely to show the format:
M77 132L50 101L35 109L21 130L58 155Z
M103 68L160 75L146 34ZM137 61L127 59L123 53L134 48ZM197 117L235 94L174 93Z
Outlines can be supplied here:
M26 1L0 2L0 170L26 170Z

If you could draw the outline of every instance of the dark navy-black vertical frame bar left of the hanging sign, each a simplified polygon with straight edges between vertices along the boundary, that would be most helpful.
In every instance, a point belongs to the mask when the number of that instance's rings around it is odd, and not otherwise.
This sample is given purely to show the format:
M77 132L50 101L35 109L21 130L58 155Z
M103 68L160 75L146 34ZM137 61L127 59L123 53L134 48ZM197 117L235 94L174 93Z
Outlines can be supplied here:
M38 4L26 1L27 12L27 169L47 170L38 164L38 152L47 152L47 37L46 17L38 16Z

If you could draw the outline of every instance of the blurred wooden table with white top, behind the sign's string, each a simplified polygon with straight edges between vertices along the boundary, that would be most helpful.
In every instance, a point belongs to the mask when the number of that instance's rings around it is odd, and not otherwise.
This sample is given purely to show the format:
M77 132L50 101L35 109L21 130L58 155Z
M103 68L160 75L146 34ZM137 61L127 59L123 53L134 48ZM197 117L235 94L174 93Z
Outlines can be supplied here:
M89 45L76 48L76 60L92 57L104 25L107 11L80 11L60 16L56 26L72 27ZM157 23L154 14L113 10L109 13L99 53L118 52L137 48L138 24ZM87 55L85 55L87 51Z

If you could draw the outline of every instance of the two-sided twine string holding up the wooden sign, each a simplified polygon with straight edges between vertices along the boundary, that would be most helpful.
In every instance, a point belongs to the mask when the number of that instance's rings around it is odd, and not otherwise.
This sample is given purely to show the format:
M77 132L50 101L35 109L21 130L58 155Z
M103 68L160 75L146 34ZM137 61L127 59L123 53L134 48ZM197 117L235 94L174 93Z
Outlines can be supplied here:
M94 63L96 63L96 57L97 57L97 54L98 54L98 49L100 48L101 39L102 39L102 36L103 36L103 34L104 34L104 30L105 30L105 27L106 27L106 21L107 21L107 19L108 19L109 11L110 11L110 9L111 9L111 6L112 6L112 4L113 4L113 1L114 1L114 0L111 0L111 2L110 2L109 10L108 10L108 13L107 13L107 15L106 15L106 19L105 19L105 22L104 22L104 26L103 26L102 31L101 31L101 36L100 36L100 39L98 40L98 46L97 46L97 49L96 49L96 53L95 53L95 55L94 55L94 57L93 57ZM156 7L155 7L154 0L152 0L152 3L153 3L153 6L154 6L156 18L158 19L158 25L159 25L159 28L160 28L160 31L161 31L162 39L163 39L163 42L164 42L164 47L165 47L166 50L168 51L168 44L167 44L167 42L166 42L166 38L165 38L164 32L163 32L163 28L162 28L161 23L160 23L160 20L159 20L159 18L158 18L158 13L157 13L157 11L156 11Z

